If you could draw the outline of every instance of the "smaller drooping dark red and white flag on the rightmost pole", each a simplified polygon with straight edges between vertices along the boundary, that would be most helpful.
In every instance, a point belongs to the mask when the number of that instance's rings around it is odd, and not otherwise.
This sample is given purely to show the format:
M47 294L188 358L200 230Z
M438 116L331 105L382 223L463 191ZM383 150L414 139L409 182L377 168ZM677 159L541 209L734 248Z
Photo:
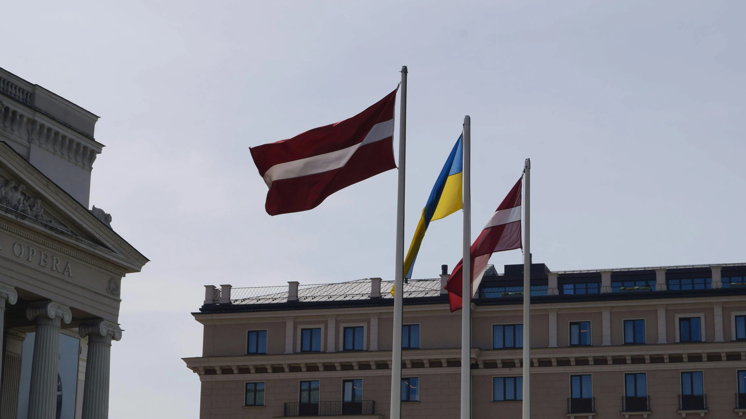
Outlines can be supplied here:
M482 233L471 245L471 295L479 289L484 270L492 253L501 251L512 251L522 248L521 244L521 186L523 177L518 179L513 189L502 204L495 209L495 213L489 218ZM461 259L448 278L448 302L451 303L451 312L455 312L463 305L462 299L462 268Z

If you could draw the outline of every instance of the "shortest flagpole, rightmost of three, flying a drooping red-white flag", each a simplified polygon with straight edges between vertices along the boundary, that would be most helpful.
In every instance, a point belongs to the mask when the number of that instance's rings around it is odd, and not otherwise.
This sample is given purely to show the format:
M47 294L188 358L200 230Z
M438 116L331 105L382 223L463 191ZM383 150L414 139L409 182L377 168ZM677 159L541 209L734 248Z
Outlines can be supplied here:
M530 248L530 179L531 160L526 159L523 221L523 419L531 418L531 248Z

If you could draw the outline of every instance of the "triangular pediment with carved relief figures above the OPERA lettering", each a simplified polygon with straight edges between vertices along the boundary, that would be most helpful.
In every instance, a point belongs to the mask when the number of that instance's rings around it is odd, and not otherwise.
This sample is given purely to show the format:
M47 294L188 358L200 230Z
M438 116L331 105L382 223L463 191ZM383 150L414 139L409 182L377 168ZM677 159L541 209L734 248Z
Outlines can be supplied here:
M123 274L148 262L111 229L105 212L83 207L5 142L0 142L1 218L94 253L119 265Z

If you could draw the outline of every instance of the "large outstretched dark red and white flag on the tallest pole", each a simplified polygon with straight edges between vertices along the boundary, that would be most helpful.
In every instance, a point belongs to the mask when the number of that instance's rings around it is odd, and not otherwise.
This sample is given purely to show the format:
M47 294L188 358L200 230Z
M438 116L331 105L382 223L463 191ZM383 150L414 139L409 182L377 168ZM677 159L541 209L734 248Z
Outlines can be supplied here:
M396 168L396 91L350 119L250 148L269 187L269 215L312 209L353 183Z

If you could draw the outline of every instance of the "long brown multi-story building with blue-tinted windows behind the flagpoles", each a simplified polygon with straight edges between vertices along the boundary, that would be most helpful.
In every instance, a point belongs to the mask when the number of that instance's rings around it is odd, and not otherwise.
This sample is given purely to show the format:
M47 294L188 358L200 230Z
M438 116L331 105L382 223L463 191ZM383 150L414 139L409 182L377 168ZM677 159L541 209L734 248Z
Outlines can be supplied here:
M404 286L403 418L460 415L460 312L448 275ZM489 266L472 310L474 418L521 418L522 265ZM533 418L746 412L746 264L531 268ZM207 286L202 419L386 418L392 284Z

